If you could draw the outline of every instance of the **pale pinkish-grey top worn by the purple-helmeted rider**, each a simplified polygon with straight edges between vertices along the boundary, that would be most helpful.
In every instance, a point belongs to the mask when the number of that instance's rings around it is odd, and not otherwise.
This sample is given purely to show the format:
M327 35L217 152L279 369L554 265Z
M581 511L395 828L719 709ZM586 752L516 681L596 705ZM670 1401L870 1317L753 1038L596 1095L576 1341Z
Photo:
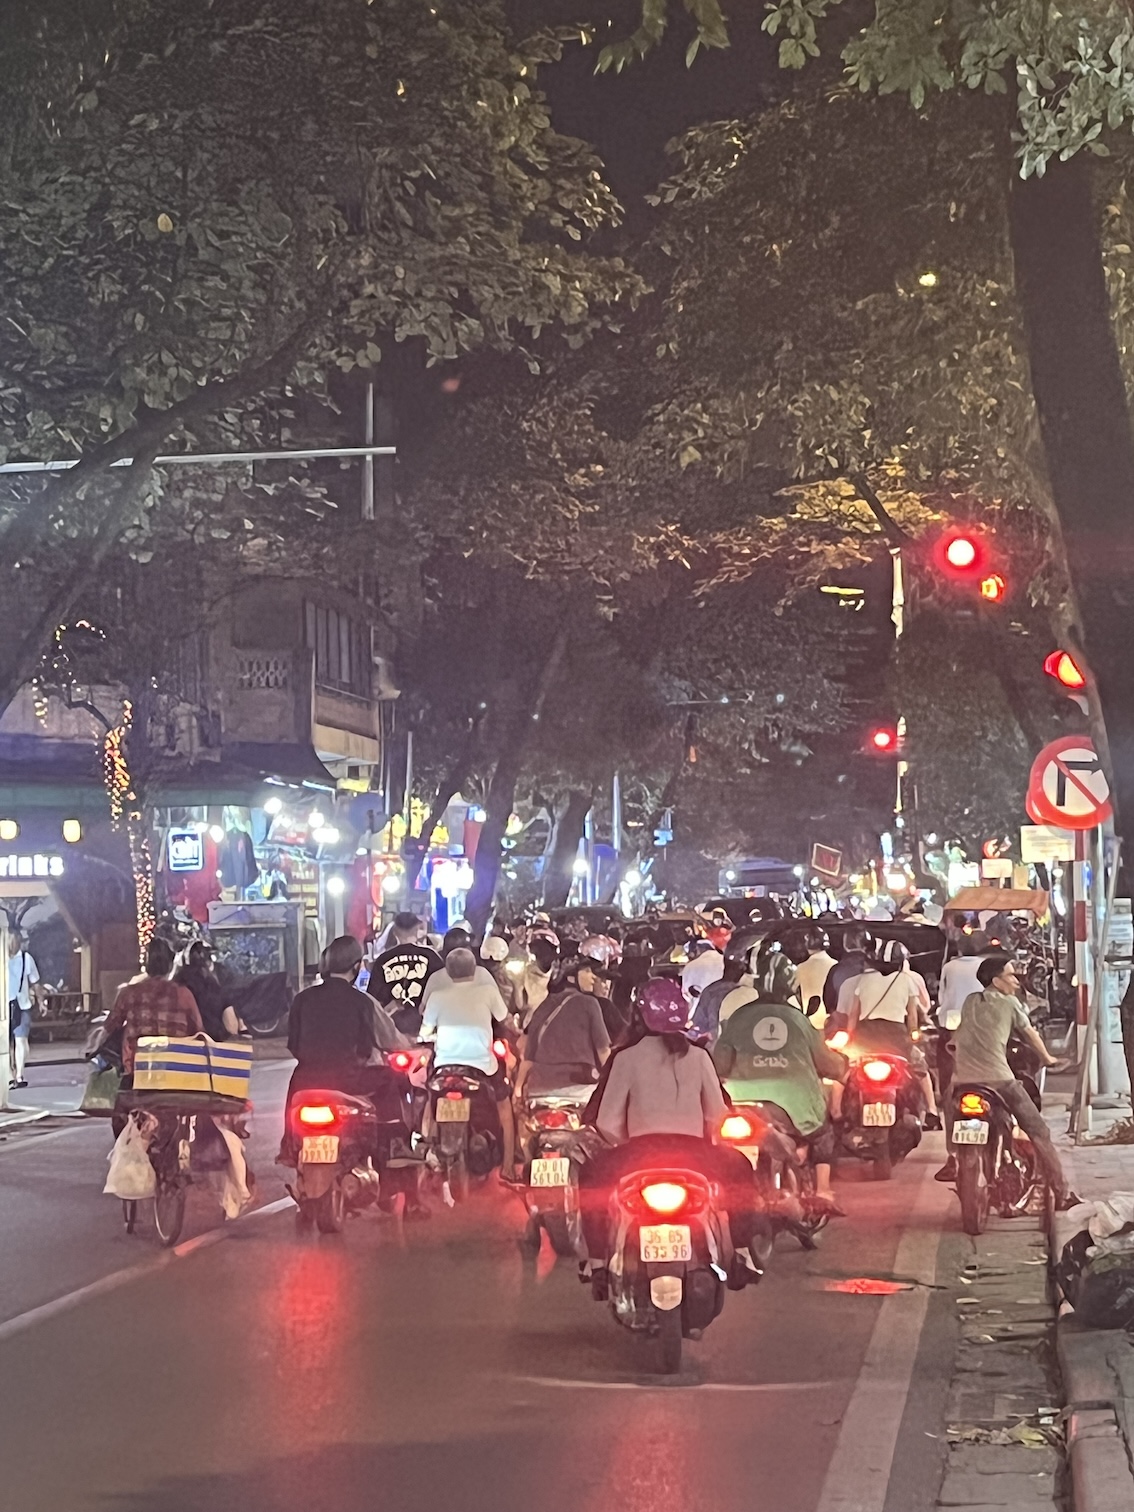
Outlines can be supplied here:
M643 1134L691 1134L705 1139L726 1113L720 1078L708 1051L689 1045L673 1055L659 1036L620 1049L599 1104L597 1128L623 1145Z

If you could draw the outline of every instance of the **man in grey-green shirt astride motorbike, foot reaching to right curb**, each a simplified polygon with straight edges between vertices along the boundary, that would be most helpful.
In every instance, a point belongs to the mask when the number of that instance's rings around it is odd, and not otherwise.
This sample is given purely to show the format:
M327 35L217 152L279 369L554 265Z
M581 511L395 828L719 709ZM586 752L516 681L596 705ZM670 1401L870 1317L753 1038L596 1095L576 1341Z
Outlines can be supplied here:
M981 990L969 993L965 999L954 1036L953 1084L975 1083L995 1092L1001 1102L1007 1104L1012 1116L1036 1148L1043 1175L1055 1198L1055 1207L1064 1211L1080 1199L1067 1187L1046 1119L1009 1064L1009 1040L1013 1031L1024 1036L1045 1066L1055 1066L1058 1060L1031 1027L1031 1021L1016 996L1019 978L1009 956L986 956L977 968L977 980ZM947 1164L937 1172L937 1181L956 1181L956 1155L950 1152Z

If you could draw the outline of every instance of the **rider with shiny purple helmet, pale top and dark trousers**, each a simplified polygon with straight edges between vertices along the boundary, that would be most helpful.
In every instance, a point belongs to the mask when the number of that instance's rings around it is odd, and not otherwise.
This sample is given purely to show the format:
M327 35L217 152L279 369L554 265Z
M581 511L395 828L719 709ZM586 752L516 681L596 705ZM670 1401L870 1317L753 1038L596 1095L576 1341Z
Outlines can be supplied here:
M726 1193L738 1264L729 1285L739 1288L762 1272L750 1244L761 1225L756 1181L739 1151L714 1145L727 1102L708 1052L688 1039L689 1004L676 981L652 978L635 993L631 1043L615 1051L591 1098L585 1119L611 1145L579 1175L582 1225L591 1276L608 1244L608 1193L650 1163L689 1161Z

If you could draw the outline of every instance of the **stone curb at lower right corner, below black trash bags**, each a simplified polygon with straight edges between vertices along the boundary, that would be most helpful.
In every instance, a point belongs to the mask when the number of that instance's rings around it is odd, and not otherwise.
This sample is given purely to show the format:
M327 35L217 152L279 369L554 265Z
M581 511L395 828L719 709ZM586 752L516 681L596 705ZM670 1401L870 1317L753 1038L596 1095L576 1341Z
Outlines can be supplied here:
M1057 1213L1048 1234L1052 1266L1074 1232ZM1134 1464L1126 1435L1134 1400L1126 1396L1117 1361L1128 1355L1134 1367L1134 1340L1123 1329L1083 1328L1063 1303L1055 1350L1066 1402L1072 1512L1131 1512Z

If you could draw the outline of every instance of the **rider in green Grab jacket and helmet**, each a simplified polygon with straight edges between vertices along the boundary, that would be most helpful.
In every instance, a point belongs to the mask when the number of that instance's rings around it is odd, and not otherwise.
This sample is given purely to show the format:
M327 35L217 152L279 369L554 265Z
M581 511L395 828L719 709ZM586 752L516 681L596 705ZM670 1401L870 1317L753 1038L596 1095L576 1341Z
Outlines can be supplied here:
M721 1028L712 1063L738 1102L771 1102L782 1108L797 1143L815 1163L816 1199L839 1213L830 1190L835 1131L827 1117L823 1078L844 1081L847 1061L830 1049L791 993L794 968L771 957L758 983L759 996L741 1004Z

